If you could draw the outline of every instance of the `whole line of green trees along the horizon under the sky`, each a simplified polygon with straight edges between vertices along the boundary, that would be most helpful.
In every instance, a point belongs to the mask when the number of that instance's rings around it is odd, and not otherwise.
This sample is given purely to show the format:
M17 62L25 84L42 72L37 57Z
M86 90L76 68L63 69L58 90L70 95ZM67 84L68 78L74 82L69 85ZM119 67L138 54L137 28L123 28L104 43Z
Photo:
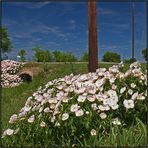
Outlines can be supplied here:
M7 33L7 29L5 27L0 28L1 33L1 51L2 53L10 52L13 48L12 43L10 41L10 37ZM80 59L78 59L73 53L71 52L62 52L62 51L49 51L43 50L41 47L37 46L32 49L35 53L33 56L33 60L37 62L88 62L88 53L84 53ZM148 55L146 49L142 50L143 58L147 61ZM17 57L20 61L26 61L27 52L24 49L20 49L18 52ZM3 59L6 59L4 57ZM134 59L136 61L136 59ZM105 52L102 58L104 62L121 62L121 56L116 52ZM124 59L125 63L131 63L132 59Z

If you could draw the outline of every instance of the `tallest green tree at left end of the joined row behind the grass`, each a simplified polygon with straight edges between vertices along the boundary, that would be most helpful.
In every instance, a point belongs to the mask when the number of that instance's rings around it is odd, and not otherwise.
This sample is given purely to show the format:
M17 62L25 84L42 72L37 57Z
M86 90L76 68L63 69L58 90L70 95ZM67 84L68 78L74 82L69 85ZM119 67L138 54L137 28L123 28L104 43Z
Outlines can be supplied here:
M35 51L34 59L37 62L51 62L52 61L52 54L48 50L42 50L41 47L37 46L32 49Z

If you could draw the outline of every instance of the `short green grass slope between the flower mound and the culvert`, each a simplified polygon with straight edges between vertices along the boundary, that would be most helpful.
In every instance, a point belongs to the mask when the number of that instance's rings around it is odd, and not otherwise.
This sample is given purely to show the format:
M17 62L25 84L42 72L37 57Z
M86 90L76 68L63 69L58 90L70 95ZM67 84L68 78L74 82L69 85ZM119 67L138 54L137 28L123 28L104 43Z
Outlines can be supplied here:
M36 66L36 64L29 63L26 66ZM72 72L75 74L87 72L86 64L74 65L73 69L70 64L39 64L38 66L43 68L44 72L35 77L31 83L23 83L14 88L2 89L2 126L6 126L10 116L18 113L21 107L24 106L26 99L31 96L39 86L44 86L48 81L63 77Z

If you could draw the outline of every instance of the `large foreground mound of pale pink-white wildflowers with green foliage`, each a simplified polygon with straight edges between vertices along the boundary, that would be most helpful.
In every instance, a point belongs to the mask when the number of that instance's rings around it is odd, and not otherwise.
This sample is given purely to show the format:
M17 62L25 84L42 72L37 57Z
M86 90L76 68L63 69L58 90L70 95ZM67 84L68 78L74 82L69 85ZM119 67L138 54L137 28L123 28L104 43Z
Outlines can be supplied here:
M138 62L131 64L126 72L120 70L121 66L49 81L27 99L18 114L10 117L11 128L6 129L2 137L14 135L17 128L17 134L26 127L28 131L25 132L29 132L30 126L45 133L50 129L62 133L70 131L71 136L78 134L81 138L82 131L86 136L95 136L100 126L128 125L136 116L144 117L147 111L146 73ZM146 116L142 119L146 121Z

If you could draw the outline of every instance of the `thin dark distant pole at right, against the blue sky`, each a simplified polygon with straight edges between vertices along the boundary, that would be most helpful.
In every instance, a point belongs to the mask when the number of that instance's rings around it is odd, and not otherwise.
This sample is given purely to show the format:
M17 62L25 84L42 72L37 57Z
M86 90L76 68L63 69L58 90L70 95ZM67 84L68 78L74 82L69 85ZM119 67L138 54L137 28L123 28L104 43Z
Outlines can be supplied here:
M132 3L132 62L134 62L134 2Z

